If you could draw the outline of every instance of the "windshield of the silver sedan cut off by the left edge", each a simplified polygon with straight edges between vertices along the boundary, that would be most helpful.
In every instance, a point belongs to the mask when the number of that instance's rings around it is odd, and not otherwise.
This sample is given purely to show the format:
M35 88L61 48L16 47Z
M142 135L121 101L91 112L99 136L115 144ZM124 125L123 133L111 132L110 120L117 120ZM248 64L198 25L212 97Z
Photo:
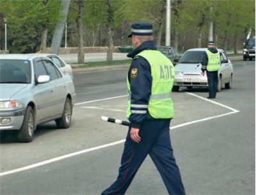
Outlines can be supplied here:
M0 83L30 83L31 66L28 60L0 59Z

